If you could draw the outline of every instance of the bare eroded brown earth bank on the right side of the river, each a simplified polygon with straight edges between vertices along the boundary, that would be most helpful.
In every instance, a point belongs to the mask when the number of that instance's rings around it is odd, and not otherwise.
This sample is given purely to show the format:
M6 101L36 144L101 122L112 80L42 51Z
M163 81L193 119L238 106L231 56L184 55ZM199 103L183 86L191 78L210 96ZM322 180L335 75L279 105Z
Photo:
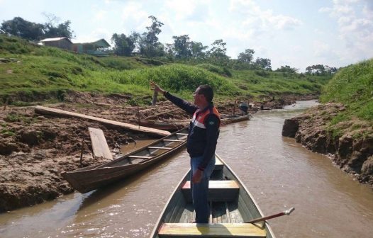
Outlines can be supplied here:
M342 111L345 106L341 103L310 108L302 115L286 119L282 135L294 137L313 152L328 154L340 169L373 188L372 125L352 118L331 128L330 120Z

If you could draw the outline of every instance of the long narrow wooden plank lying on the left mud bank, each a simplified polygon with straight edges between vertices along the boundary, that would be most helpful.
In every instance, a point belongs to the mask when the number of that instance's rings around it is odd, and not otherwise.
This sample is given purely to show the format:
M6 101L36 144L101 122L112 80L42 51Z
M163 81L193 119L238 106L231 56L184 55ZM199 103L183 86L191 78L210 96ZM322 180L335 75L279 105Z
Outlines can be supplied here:
M104 118L96 118L96 117L91 116L91 115L84 115L84 114L80 114L80 113L72 113L72 112L69 112L69 111L63 111L63 110L56 109L56 108L47 108L47 107L43 107L43 106L36 106L35 107L35 113L44 114L44 115L46 114L46 115L69 116L69 117L74 117L74 118L84 118L84 119L87 119L87 120L94 120L94 121L97 121L97 122L100 122L100 123L104 123L106 125L116 126L116 127L119 127L119 128L126 128L128 130L134 130L134 131L138 131L138 132L145 132L145 133L149 133L149 134L153 134L153 135L162 135L162 136L171 135L171 133L168 132L167 130L157 130L157 129L154 129L154 128L146 128L146 127L143 127L143 126L132 125L132 124L128 124L128 123L121 123L121 122L118 122L118 121L115 121L115 120L108 120L108 119L104 119Z

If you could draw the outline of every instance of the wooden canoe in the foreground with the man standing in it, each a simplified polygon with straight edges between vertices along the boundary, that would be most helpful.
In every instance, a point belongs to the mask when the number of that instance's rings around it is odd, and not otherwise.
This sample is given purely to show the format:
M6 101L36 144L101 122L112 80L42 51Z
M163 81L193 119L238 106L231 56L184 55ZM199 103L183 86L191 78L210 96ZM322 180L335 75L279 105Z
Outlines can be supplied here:
M195 215L189 173L190 170L172 193L150 238L274 237L267 222L245 223L264 216L238 176L218 155L208 186L209 223L192 223Z

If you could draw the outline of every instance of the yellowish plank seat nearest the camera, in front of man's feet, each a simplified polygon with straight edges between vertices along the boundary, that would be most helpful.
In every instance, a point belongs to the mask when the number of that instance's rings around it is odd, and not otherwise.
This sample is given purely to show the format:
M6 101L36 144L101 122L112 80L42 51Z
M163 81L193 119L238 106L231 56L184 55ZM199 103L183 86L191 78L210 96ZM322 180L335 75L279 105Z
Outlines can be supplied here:
M163 223L162 237L267 237L265 228L249 223Z

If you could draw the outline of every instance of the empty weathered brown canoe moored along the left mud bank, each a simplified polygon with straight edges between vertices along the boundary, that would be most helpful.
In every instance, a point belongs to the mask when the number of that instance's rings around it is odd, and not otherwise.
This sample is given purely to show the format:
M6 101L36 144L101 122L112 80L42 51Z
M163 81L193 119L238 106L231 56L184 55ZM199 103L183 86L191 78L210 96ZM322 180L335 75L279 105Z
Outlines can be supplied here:
M77 191L87 193L106 186L108 183L124 179L162 159L169 158L171 154L186 145L187 135L188 129L183 128L111 162L64 171L61 175Z

